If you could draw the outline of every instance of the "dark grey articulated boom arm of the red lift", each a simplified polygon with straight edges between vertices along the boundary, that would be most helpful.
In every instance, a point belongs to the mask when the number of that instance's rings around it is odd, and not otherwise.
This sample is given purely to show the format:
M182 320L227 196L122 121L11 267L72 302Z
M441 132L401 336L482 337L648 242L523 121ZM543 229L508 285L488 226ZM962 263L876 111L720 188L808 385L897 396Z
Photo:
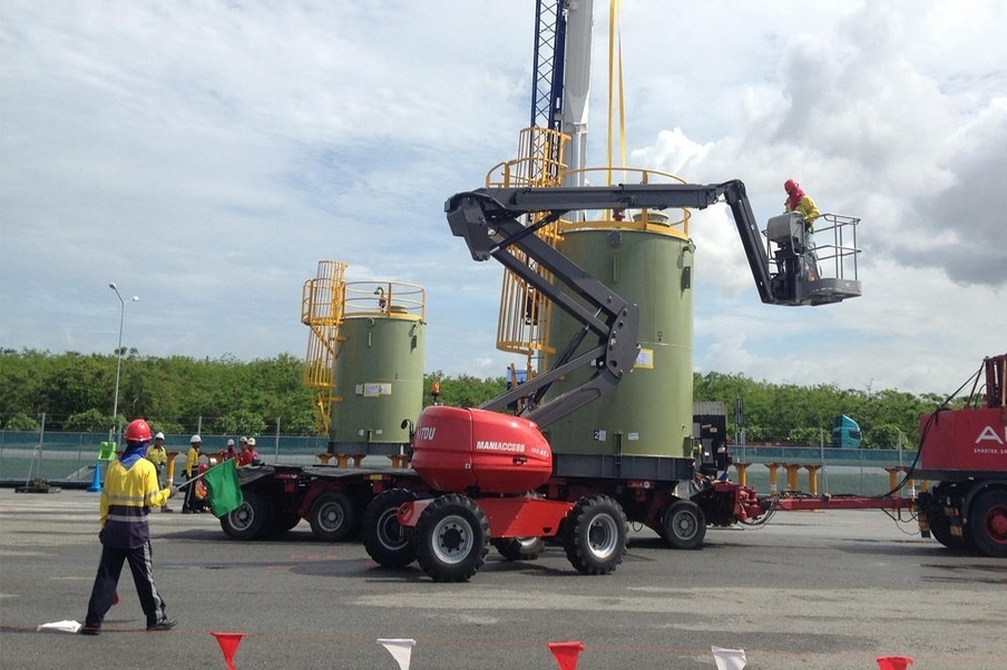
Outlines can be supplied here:
M560 358L548 372L485 403L481 408L502 410L519 398L536 394L573 370L593 365L595 374L587 382L522 414L538 423L540 427L545 427L612 390L636 362L639 306L628 303L597 278L588 275L577 264L535 235L536 230L558 220L569 211L668 207L705 209L721 198L724 198L734 215L737 233L763 303L820 304L860 294L859 283L857 286L845 286L850 283L844 282L844 286L837 290L837 286L827 285L829 280L820 280L829 289L828 294L819 295L818 299L809 297L812 292L802 289L803 276L790 276L795 273L798 266L782 262L780 252L776 253L778 272L771 274L769 257L762 246L744 184L740 180L712 185L632 184L480 188L451 196L444 204L448 224L454 236L466 240L473 259L481 262L496 258L535 290L577 319L583 325L585 335L592 333L598 338L597 346L571 359ZM531 213L547 214L534 225L526 226L521 219ZM522 252L527 258L535 262L535 265L518 260L510 253L511 247ZM793 252L786 252L785 255L799 257ZM548 270L555 283L544 277L537 268ZM564 290L560 284L568 292Z

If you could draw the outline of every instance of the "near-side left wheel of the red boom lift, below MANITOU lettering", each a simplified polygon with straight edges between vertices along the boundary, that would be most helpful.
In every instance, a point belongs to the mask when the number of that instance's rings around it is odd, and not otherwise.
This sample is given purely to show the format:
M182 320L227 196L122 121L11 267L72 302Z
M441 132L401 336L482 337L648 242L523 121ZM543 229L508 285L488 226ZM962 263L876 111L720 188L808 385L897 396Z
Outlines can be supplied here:
M434 499L412 535L417 561L436 582L467 582L486 563L489 521L471 497L449 493Z

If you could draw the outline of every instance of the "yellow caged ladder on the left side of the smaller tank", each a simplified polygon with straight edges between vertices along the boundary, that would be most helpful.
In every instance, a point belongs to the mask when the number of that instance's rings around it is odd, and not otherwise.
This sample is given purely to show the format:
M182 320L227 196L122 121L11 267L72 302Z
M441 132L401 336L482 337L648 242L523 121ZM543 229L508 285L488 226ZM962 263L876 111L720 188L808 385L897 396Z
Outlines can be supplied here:
M301 323L310 328L304 357L304 385L312 388L315 427L327 434L335 396L339 326L343 317L343 276L346 264L320 260L317 276L301 290Z

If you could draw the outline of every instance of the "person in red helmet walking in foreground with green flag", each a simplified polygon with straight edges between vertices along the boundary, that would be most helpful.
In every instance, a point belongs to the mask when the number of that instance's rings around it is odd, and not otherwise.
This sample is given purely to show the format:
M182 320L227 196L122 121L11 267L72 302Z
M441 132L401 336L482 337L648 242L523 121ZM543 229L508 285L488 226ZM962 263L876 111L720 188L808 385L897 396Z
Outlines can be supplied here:
M177 489L162 489L157 470L144 459L150 441L150 426L137 418L126 426L126 451L108 466L101 491L99 514L101 559L87 604L87 617L80 633L98 635L101 622L116 600L123 563L129 563L133 583L147 615L147 630L172 630L177 621L168 619L165 601L154 587L153 551L147 514L150 508L165 504Z

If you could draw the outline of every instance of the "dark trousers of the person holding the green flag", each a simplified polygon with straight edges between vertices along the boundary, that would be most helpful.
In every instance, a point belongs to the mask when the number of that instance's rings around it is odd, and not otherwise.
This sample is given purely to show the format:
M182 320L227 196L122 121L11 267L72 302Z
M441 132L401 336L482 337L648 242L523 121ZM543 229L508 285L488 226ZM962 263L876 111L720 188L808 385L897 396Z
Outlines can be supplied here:
M147 625L154 625L168 618L165 601L154 587L154 550L148 540L143 546L131 549L101 546L101 560L98 562L98 574L95 577L91 598L87 603L85 625L101 627L115 600L124 562L129 563L129 571L133 572L133 583L136 585L136 594L140 598L144 614L147 615Z

